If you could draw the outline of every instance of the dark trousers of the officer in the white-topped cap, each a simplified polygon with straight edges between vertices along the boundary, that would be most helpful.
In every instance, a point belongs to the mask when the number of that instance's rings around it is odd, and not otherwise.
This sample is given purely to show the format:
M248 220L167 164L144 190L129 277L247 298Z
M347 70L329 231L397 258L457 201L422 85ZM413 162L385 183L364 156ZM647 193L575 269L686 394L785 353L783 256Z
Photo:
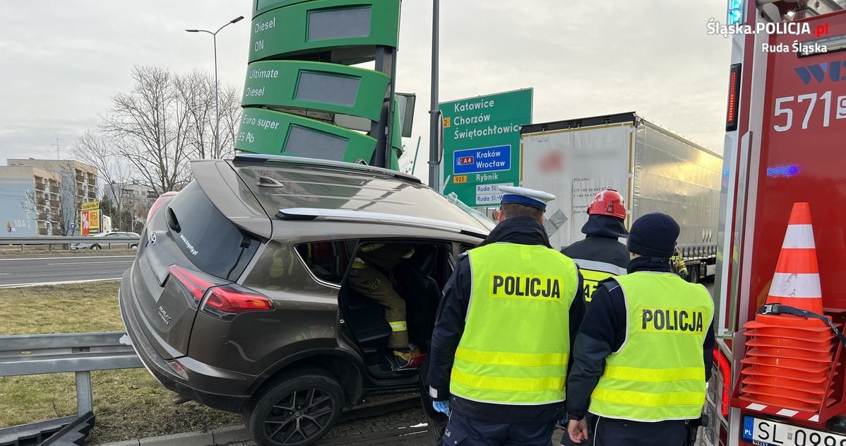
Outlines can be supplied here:
M453 412L443 446L550 446L555 422L499 424L472 420Z

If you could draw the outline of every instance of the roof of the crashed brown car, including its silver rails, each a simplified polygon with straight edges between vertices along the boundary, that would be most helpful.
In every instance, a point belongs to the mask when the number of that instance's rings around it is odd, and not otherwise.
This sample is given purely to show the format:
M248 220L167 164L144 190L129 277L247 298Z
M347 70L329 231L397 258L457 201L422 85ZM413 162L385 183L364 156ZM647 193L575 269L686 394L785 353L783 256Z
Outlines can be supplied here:
M210 190L234 191L244 201L244 191L235 189L245 185L272 219L424 225L481 238L493 227L486 217L472 216L420 179L393 170L303 157L239 155L228 164L241 184L228 184L223 190L219 179L225 179L225 174L214 175L217 182L209 178L213 162L192 162L195 178L207 195Z

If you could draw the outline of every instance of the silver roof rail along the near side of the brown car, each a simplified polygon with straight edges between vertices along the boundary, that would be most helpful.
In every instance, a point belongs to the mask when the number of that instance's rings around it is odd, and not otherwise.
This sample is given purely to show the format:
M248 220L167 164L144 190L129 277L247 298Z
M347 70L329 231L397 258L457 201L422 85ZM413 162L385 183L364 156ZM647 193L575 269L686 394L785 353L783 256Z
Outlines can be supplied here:
M279 209L277 217L286 220L334 220L363 223L387 223L418 228L437 228L459 234L485 238L487 234L470 225L438 220L436 218L414 217L385 212L355 211L353 209L321 209L318 207L289 207Z

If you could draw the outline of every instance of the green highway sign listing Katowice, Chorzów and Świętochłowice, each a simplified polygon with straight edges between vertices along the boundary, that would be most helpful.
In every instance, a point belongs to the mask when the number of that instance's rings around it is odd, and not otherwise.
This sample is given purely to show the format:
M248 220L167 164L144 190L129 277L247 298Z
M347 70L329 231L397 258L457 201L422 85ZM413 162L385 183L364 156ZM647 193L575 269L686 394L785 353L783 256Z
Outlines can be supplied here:
M532 89L442 102L443 194L498 206L498 185L520 179L520 126L531 124Z

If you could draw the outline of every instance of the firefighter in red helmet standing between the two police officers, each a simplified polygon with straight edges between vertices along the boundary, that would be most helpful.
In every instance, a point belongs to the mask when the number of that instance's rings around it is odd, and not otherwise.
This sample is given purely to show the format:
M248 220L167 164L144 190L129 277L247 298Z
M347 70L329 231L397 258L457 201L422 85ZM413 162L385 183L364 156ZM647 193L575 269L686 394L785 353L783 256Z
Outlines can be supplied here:
M596 286L607 278L621 276L629 266L629 249L620 243L620 237L628 237L626 230L626 201L617 190L608 189L593 197L587 207L587 222L582 226L585 240L579 240L561 250L579 266L584 279L585 302L591 303ZM592 427L593 416L587 414L588 427ZM567 420L562 420L567 427ZM569 435L561 438L562 446L574 446Z

